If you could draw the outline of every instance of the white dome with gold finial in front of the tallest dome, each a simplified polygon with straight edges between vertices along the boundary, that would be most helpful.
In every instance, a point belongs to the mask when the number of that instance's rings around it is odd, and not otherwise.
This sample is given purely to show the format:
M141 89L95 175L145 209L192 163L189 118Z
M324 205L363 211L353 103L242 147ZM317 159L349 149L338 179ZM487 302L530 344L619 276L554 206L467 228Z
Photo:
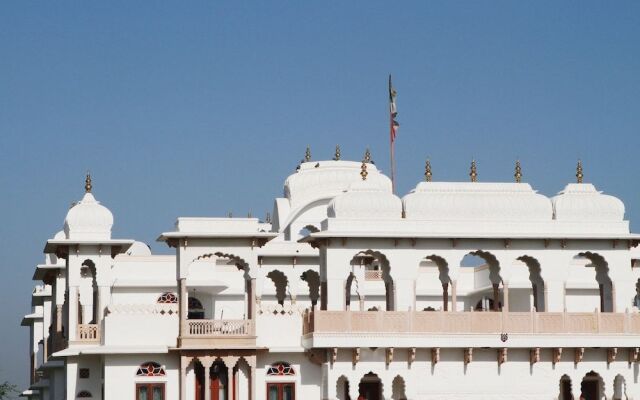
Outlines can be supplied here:
M383 189L367 177L366 181L355 182L349 190L336 196L327 207L327 215L330 218L400 219L402 200L391 193L391 185Z

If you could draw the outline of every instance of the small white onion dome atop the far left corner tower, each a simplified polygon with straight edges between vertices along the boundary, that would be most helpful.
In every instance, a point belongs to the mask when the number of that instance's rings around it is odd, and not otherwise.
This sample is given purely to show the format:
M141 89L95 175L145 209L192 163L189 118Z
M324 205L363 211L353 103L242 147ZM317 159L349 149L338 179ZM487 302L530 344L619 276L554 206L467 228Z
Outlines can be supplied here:
M67 239L108 240L111 239L112 226L113 214L91 193L85 193L82 200L69 209L64 219Z

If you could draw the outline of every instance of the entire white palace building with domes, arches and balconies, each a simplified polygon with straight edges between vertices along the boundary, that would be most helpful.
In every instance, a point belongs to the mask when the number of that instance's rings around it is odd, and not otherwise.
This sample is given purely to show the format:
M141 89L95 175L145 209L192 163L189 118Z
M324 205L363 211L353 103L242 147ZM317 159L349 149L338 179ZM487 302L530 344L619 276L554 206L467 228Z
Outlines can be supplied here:
M640 235L583 183L305 160L272 217L178 218L171 255L92 193L33 279L40 400L640 399ZM175 252L175 253L174 253Z

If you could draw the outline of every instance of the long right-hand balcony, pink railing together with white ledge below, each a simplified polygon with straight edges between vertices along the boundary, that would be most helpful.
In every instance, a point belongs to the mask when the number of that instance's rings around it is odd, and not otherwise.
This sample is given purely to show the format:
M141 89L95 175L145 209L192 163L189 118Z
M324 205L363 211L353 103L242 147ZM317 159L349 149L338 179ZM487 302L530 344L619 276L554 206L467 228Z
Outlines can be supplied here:
M335 347L340 341L363 340L366 344L359 346L375 347L390 342L389 338L406 343L406 347L458 347L457 342L465 347L496 347L500 343L501 347L529 347L532 342L538 347L568 347L560 342L573 343L571 347L576 342L585 347L605 343L612 347L613 342L619 347L636 347L630 343L640 340L640 314L316 310L305 315L303 335L306 347ZM543 346L545 343L549 346Z

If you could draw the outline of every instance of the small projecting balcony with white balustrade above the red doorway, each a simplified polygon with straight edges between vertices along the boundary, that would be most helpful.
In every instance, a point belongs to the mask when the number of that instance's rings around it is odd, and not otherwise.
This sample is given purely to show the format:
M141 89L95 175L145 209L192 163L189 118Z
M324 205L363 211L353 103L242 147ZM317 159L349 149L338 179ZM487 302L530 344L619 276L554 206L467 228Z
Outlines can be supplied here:
M250 319L195 319L183 322L181 348L255 348L254 323Z

